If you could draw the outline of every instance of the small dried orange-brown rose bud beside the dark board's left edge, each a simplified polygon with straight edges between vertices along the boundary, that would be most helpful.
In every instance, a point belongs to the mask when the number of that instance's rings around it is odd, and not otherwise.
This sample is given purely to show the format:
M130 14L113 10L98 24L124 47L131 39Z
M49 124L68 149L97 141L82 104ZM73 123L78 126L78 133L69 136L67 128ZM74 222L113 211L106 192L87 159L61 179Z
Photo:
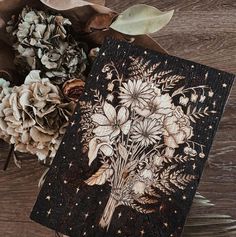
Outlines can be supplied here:
M85 82L81 79L71 79L64 83L62 90L68 99L78 101L84 91L84 85Z

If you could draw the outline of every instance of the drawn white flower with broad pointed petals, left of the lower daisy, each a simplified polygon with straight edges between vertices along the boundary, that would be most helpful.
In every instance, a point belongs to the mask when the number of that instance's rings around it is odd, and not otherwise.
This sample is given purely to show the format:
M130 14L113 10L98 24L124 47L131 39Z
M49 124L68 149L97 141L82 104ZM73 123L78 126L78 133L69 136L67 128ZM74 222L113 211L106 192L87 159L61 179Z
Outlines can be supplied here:
M105 102L103 105L103 114L92 115L93 122L98 124L93 132L98 137L109 136L111 139L118 136L122 131L125 135L130 130L131 120L129 119L129 110L121 107L116 112L115 108Z

